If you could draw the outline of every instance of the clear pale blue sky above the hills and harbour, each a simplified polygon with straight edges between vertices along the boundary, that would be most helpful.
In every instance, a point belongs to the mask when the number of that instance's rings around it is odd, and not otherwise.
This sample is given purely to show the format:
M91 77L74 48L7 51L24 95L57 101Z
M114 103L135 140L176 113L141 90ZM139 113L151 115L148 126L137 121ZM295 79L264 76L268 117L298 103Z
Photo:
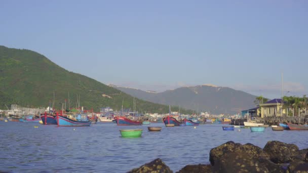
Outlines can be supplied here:
M104 84L157 92L214 84L302 97L307 18L304 0L1 0L0 45Z

